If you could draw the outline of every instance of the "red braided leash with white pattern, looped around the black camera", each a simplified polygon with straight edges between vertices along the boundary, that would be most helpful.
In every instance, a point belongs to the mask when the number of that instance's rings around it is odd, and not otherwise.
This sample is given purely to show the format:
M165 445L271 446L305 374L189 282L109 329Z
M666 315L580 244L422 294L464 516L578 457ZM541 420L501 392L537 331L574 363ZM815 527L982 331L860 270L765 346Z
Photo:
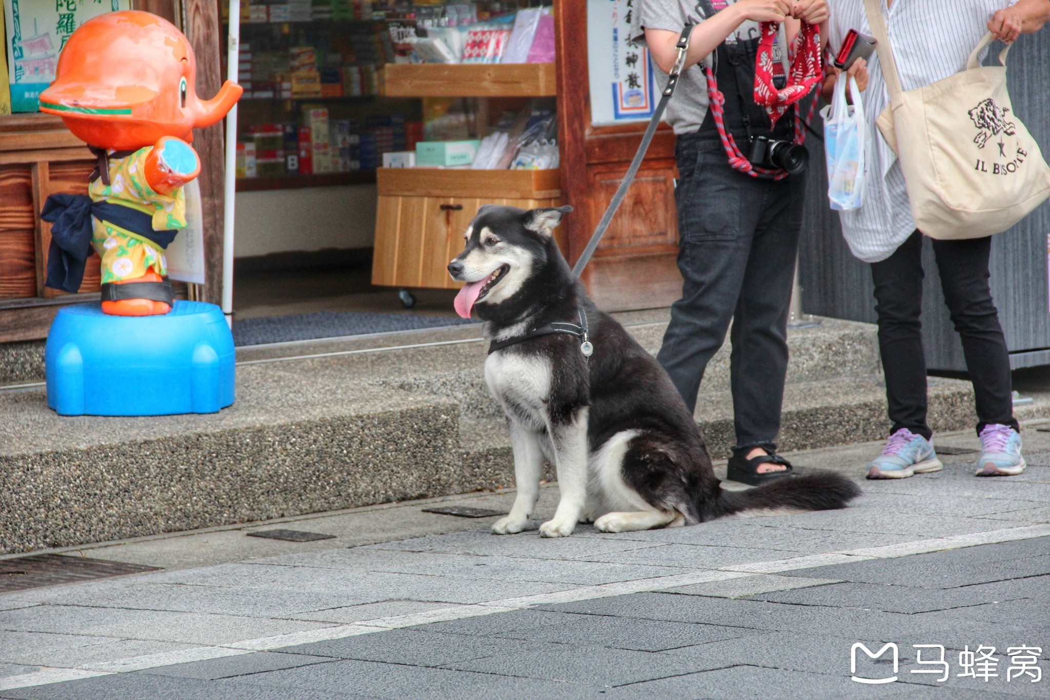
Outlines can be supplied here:
M770 115L772 125L776 125L789 108L795 111L795 144L805 141L805 128L800 120L799 100L804 98L824 78L823 65L820 61L820 31L816 25L802 23L802 28L795 37L792 47L794 58L791 63L791 71L788 75L788 84L783 89L776 89L773 84L773 44L776 41L778 24L774 22L762 22L762 38L758 44L758 56L755 61L755 103L762 105ZM704 67L704 72L708 79L709 109L718 128L718 135L721 137L722 148L729 157L729 164L734 170L758 177L759 175L771 176L773 179L783 179L788 176L784 170L770 170L758 168L751 164L740 152L739 146L733 134L726 131L726 96L718 89L715 82L714 72L710 65ZM817 101L810 103L810 111L805 116L805 124L813 120L813 114L817 106Z

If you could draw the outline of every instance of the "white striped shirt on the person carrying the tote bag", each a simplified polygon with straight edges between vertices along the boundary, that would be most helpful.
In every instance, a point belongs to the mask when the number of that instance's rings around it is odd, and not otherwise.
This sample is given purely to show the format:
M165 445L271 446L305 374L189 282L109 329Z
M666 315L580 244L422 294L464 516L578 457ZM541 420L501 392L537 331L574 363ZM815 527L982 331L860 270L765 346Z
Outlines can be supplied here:
M970 51L988 31L991 16L1016 1L894 0L887 10L886 0L882 0L901 89L916 90L965 69ZM863 0L828 0L828 5L830 46L840 46L849 29L872 35ZM839 212L839 218L853 254L866 262L878 262L892 255L916 230L916 222L900 163L875 124L889 104L889 93L874 55L863 103L868 134L875 136L867 140L863 204L860 209Z

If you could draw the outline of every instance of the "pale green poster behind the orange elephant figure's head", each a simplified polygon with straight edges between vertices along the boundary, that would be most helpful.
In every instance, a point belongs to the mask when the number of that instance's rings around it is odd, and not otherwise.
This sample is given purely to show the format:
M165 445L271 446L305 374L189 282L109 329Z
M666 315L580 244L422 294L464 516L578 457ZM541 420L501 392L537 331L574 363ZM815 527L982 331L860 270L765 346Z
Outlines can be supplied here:
M37 111L40 93L55 80L59 52L77 27L130 8L130 0L3 0L12 111Z

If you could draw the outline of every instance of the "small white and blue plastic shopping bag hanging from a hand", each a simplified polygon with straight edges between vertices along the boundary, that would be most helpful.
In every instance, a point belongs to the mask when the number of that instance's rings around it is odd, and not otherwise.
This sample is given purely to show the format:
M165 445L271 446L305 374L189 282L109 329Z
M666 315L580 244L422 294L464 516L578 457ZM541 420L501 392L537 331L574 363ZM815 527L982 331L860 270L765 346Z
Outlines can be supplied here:
M846 103L846 81L853 104ZM864 149L867 124L857 81L841 73L835 82L832 104L820 110L824 120L824 152L827 161L827 198L832 209L860 209L864 184Z

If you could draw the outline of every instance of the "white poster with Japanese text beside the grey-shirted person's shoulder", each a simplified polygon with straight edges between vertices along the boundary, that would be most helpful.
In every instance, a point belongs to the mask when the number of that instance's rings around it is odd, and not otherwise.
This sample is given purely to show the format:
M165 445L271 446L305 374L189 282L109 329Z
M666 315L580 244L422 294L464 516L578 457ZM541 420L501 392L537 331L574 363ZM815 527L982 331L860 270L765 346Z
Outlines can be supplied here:
M591 124L644 122L656 107L652 62L628 42L637 0L587 0Z

